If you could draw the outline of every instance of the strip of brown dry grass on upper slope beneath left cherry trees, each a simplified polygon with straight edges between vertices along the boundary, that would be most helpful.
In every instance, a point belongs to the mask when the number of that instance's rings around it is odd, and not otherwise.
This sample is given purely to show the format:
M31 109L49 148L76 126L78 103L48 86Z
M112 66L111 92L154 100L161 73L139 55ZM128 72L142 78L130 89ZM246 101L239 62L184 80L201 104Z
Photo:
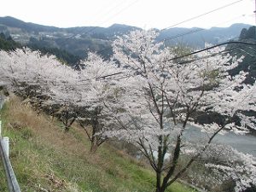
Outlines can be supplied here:
M16 96L9 102L9 128L31 133L39 142L49 144L56 149L64 149L65 153L87 154L83 143L79 143L71 132L61 130L60 122L52 122L45 114L38 114L30 105L24 105ZM28 130L28 131L27 131ZM82 133L82 131L77 130ZM26 134L26 133L25 133Z

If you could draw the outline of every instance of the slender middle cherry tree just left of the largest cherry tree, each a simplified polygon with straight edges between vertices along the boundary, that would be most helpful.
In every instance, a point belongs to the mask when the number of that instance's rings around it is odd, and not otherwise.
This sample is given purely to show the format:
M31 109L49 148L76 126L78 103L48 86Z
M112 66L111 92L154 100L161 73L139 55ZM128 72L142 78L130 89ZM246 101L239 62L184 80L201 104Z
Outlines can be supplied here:
M120 86L115 80L116 75L112 75L119 74L119 68L113 61L103 61L93 53L81 64L84 67L79 72L79 90L82 93L79 105L87 107L87 112L79 118L79 123L90 139L90 152L94 153L108 139L105 131L116 126L108 107L112 108L118 99ZM91 131L87 125L91 125Z

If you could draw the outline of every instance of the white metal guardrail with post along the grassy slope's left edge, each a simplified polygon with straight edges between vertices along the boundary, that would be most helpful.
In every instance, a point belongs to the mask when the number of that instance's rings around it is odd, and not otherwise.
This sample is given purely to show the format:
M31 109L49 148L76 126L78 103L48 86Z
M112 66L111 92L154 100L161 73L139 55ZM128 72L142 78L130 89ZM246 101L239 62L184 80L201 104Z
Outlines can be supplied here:
M2 96L0 96L0 110L3 107L4 99ZM13 170L13 167L9 161L9 138L8 137L2 137L1 131L2 131L2 122L0 120L0 156L3 162L3 168L5 170L5 176L7 179L9 192L20 192L20 186L17 182L17 179L15 177L15 172Z

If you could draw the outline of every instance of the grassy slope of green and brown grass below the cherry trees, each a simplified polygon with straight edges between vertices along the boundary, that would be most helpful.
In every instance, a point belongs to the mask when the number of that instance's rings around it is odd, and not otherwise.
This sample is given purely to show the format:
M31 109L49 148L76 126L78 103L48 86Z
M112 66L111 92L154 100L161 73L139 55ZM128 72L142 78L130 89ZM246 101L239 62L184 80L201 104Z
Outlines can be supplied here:
M10 160L21 191L154 191L154 173L105 144L89 153L84 132L64 133L58 121L37 115L11 99L2 111L3 136L10 138ZM0 191L7 191L0 166ZM169 192L193 191L175 183Z

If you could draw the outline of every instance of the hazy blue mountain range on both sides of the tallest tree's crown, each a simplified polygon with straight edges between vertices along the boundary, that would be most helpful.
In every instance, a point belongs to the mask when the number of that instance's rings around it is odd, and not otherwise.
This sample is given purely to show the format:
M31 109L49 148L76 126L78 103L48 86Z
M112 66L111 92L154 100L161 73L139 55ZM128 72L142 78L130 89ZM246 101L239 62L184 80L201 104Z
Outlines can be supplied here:
M166 30L158 30L159 41L165 44L187 44L196 49L204 47L205 43L218 44L232 38L238 38L243 28L249 28L247 24L234 24L230 27L183 28L175 27ZM113 24L109 27L77 26L59 28L55 26L43 26L14 17L0 17L0 32L10 35L21 44L33 44L41 47L65 49L73 55L85 57L88 50L99 51L103 56L112 55L108 49L116 35L123 35L133 30L140 29L136 26ZM165 40L166 39L166 40ZM106 49L106 50L104 50ZM104 51L102 51L104 50Z

